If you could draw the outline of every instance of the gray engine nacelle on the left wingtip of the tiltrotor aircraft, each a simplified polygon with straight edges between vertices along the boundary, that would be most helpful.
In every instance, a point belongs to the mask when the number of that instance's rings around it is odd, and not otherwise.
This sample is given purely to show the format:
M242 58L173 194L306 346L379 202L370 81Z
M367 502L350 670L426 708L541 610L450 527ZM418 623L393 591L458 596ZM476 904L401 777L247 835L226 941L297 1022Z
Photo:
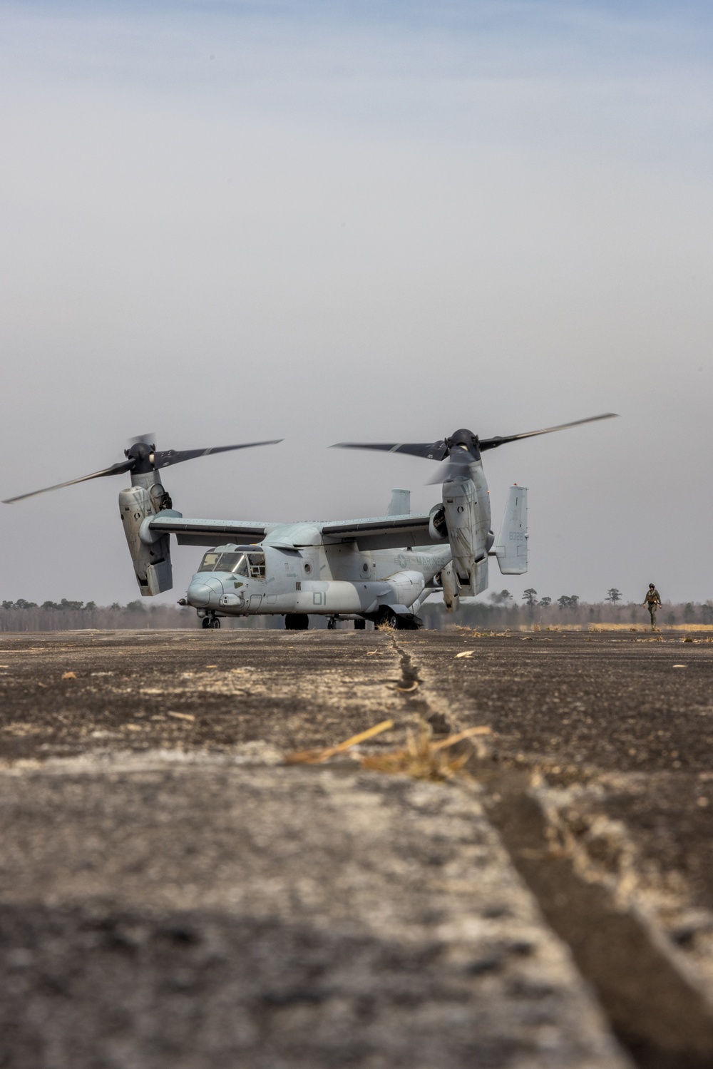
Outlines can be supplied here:
M154 472L149 477L139 476L138 479L148 482L152 477L155 478ZM146 530L148 525L141 529L144 521L157 512L181 515L172 509L162 509L167 497L158 481L150 482L148 486L134 485L128 490L122 490L119 494L119 511L124 525L124 534L143 598L152 598L154 594L162 593L164 590L170 590L173 586L169 536L153 536Z

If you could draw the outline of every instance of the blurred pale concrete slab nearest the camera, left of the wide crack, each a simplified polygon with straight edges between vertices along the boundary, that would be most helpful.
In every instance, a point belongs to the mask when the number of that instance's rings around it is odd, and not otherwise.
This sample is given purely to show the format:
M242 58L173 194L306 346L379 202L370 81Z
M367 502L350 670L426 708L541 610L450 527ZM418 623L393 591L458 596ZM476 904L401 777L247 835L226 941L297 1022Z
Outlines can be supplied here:
M627 1064L477 786L134 762L0 775L5 1065Z

